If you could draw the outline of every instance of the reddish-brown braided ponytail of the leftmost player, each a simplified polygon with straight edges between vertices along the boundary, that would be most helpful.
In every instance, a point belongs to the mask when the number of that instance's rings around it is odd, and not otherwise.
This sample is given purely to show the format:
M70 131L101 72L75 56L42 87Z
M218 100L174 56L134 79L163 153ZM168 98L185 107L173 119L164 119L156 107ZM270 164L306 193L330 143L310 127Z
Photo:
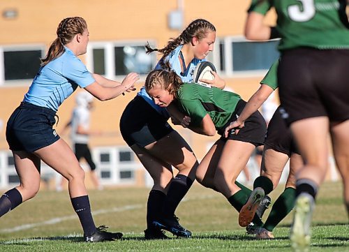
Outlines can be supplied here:
M57 38L52 42L46 54L41 59L41 66L61 56L64 45L71 42L76 34L82 34L87 29L87 23L82 17L67 17L59 23Z

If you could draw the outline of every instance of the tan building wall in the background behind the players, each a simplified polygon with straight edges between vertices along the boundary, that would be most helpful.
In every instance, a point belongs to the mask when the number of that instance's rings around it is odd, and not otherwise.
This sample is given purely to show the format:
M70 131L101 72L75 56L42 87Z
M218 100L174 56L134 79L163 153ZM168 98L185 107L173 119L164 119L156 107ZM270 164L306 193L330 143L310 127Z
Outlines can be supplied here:
M217 30L215 50L212 53L213 55L209 57L209 60L214 61L217 64L216 66L218 66L220 43L228 41L225 45L225 50L230 52L229 41L231 39L244 40L244 22L249 2L241 0L220 0L216 3L210 0L0 1L0 62L2 61L2 52L7 50L7 48L42 47L45 54L50 43L57 37L57 26L64 17L80 16L87 20L90 45L98 43L139 43L144 45L145 42L150 41L158 48L166 45L169 38L179 36L180 32L191 21L197 18L204 18L214 24ZM183 13L182 27L179 27L179 29L169 28L169 15L174 10L181 10ZM274 24L274 19L275 16L272 13L267 17L267 23ZM91 54L87 53L81 59L91 68L93 64L89 61L89 57L91 57ZM248 57L251 56L246 55L244 59ZM154 60L154 64L156 64L156 60ZM253 59L250 60L253 61ZM220 71L218 67L218 74L225 78L228 89L234 90L244 100L248 100L253 92L258 89L260 80L267 72L266 69L264 71L247 71L231 74L231 71ZM90 70L92 71L93 69ZM3 73L1 71L0 152L4 151L3 154L5 154L8 150L8 144L5 139L6 121L17 105L20 104L20 101L22 101L31 84L31 77L27 80L3 82ZM142 75L141 80L138 82L138 90L144 84L145 77L145 75ZM115 76L115 80L121 81L122 77ZM75 94L68 98L59 108L57 113L59 122L55 126L58 133L61 132L66 122L70 119L70 114L75 105L74 96ZM91 138L91 147L96 155L104 147L110 147L111 150L115 149L115 146L126 147L119 132L119 118L127 103L134 96L135 92L127 93L126 96L119 96L112 101L94 102L95 109L91 116L91 128L103 132L103 135ZM179 126L174 126L174 128L188 141L198 159L201 159L211 143L219 138L218 135L215 137L198 135ZM68 135L61 135L61 137L69 143ZM7 156L3 160L7 160ZM137 158L135 158L136 160ZM129 170L137 170L132 165ZM5 167L6 165L3 166ZM141 168L142 165L139 164L139 166ZM14 168L12 167L11 169L10 172L14 172ZM122 165L118 169L122 170ZM139 174L139 172L136 172L136 174ZM144 181L139 179L139 175L135 175L135 180L137 181L136 184L144 184Z

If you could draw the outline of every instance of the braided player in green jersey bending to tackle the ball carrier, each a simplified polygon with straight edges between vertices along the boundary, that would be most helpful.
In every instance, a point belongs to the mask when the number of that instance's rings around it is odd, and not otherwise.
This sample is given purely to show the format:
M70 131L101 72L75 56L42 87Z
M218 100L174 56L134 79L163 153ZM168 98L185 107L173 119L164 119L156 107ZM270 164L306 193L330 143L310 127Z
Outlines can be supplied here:
M149 73L144 87L160 107L171 103L191 118L188 128L202 135L222 135L209 149L196 171L196 179L207 188L222 193L239 212L251 193L246 193L235 181L244 169L255 147L262 145L267 126L260 112L245 121L239 135L224 137L224 129L235 121L246 104L235 93L209 85L183 83L170 68ZM262 225L257 214L255 225Z

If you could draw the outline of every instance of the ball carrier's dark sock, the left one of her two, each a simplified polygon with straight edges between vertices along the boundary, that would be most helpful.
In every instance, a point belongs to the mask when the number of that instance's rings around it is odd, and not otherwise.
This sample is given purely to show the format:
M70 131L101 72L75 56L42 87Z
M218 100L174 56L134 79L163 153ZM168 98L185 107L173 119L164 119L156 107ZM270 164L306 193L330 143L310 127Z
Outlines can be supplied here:
M161 216L163 202L166 195L162 191L151 190L147 201L147 228L152 228L153 221L156 221L158 216Z

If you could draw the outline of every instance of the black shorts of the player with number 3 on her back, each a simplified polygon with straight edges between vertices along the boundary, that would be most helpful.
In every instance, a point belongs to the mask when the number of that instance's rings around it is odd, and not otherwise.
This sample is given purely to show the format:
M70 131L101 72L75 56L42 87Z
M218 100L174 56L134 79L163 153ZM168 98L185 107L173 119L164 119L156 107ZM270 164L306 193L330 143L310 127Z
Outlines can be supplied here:
M349 50L298 48L283 52L279 94L288 124L311 117L349 119Z

